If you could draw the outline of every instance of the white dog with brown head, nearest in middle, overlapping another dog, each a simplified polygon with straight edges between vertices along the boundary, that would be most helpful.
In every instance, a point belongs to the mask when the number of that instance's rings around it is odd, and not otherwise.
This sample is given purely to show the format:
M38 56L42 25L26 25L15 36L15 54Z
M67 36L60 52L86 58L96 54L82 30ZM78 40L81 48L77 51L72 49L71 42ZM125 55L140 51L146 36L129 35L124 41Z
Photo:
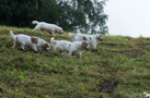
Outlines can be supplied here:
M54 47L54 51L58 52L68 52L69 57L73 53L77 53L79 58L82 58L82 52L90 49L88 41L74 41L70 42L67 40L54 40L54 37L50 39L50 44Z

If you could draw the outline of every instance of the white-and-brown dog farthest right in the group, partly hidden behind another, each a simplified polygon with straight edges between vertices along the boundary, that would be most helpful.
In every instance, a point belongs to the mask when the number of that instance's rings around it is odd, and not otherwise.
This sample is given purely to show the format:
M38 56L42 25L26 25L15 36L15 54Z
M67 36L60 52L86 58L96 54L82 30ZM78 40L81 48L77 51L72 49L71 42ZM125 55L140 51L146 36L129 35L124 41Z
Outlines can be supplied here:
M82 41L86 40L94 49L96 49L96 45L99 40L103 41L103 37L100 34L96 35L83 35L83 34L68 34L73 41Z

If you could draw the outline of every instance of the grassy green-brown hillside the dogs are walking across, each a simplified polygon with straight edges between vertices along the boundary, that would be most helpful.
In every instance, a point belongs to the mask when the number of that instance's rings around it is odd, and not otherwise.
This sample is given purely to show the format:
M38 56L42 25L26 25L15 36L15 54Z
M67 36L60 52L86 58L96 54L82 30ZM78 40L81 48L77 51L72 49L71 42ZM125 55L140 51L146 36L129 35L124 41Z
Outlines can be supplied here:
M143 98L150 93L150 38L104 36L82 60L66 53L11 49L14 34L49 34L0 26L0 97L3 98ZM68 33L55 39L71 40Z

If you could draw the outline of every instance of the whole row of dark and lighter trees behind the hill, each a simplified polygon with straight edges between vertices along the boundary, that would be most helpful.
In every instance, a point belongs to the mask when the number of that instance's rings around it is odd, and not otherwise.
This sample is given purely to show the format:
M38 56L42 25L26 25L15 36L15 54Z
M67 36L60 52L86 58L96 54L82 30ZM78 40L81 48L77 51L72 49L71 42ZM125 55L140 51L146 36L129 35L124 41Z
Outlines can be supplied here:
M105 0L0 0L0 25L33 27L32 21L44 21L65 30L108 32Z

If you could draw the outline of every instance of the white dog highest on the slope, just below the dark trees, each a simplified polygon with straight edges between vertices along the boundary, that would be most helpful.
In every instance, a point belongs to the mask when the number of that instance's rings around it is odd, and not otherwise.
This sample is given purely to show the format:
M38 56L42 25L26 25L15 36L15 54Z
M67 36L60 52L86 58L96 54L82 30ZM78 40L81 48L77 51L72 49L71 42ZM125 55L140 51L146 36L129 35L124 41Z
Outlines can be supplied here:
M64 33L62 28L57 26L57 25L55 25L55 24L49 24L49 23L46 23L46 22L37 22L37 21L33 21L32 23L36 24L36 26L33 29L33 32L36 30L36 29L41 29L42 33L43 32L48 32L53 36L55 36L55 33L59 33L59 34Z

